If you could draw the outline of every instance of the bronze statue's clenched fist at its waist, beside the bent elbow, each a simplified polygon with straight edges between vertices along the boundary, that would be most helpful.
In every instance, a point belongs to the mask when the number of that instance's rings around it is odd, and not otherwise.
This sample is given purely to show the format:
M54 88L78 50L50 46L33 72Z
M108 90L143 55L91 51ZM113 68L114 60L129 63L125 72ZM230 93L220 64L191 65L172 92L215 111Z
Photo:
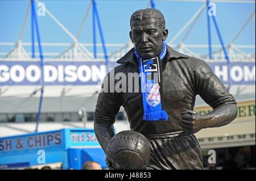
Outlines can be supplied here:
M196 111L183 111L181 112L181 117L181 127L187 133L196 133L204 128L204 120Z

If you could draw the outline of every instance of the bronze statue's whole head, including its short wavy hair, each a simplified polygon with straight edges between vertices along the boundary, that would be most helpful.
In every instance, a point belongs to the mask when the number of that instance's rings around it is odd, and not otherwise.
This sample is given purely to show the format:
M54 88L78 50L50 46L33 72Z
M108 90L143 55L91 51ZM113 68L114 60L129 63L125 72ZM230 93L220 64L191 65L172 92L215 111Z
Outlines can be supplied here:
M143 58L158 56L167 39L168 30L162 12L156 9L138 10L131 15L130 38Z

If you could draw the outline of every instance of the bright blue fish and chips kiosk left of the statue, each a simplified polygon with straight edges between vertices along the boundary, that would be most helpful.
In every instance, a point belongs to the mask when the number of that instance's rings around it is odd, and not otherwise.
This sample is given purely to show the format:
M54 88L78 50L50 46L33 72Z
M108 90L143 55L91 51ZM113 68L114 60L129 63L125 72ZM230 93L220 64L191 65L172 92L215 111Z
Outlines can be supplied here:
M61 129L0 138L0 169L48 163L63 163L63 169L81 169L88 160L106 167L105 157L93 129Z

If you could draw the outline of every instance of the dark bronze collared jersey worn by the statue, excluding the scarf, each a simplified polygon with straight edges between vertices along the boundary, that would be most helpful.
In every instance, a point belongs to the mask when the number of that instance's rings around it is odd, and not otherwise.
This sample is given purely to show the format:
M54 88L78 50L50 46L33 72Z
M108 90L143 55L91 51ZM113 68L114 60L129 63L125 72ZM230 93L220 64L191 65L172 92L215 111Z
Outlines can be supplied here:
M130 129L141 132L145 136L182 131L181 112L193 110L196 95L213 109L222 104L236 104L220 79L212 72L203 60L176 52L167 46L167 55L163 63L163 98L164 109L168 113L168 121L143 121L142 94L140 92L101 92L98 95L94 112L94 121L102 124L113 124L115 115L123 106L127 113ZM111 71L114 74L139 73L138 62L131 49L118 61ZM105 82L108 82L105 78ZM115 80L115 84L118 80ZM127 87L128 82L126 83ZM141 90L139 88L139 90ZM232 116L230 117L232 118ZM96 133L97 134L97 133ZM99 140L100 141L100 140Z

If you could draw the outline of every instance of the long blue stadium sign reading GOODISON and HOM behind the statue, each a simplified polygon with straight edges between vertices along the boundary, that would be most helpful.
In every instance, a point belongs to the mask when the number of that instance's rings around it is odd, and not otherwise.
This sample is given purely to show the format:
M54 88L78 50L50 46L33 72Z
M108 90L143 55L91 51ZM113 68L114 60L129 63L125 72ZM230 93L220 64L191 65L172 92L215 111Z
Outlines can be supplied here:
M225 62L209 62L213 72L226 84ZM110 62L110 68L118 65ZM44 64L45 85L97 85L106 75L105 62L52 61ZM232 85L255 84L255 62L231 62ZM0 86L40 85L40 63L35 61L0 61Z

